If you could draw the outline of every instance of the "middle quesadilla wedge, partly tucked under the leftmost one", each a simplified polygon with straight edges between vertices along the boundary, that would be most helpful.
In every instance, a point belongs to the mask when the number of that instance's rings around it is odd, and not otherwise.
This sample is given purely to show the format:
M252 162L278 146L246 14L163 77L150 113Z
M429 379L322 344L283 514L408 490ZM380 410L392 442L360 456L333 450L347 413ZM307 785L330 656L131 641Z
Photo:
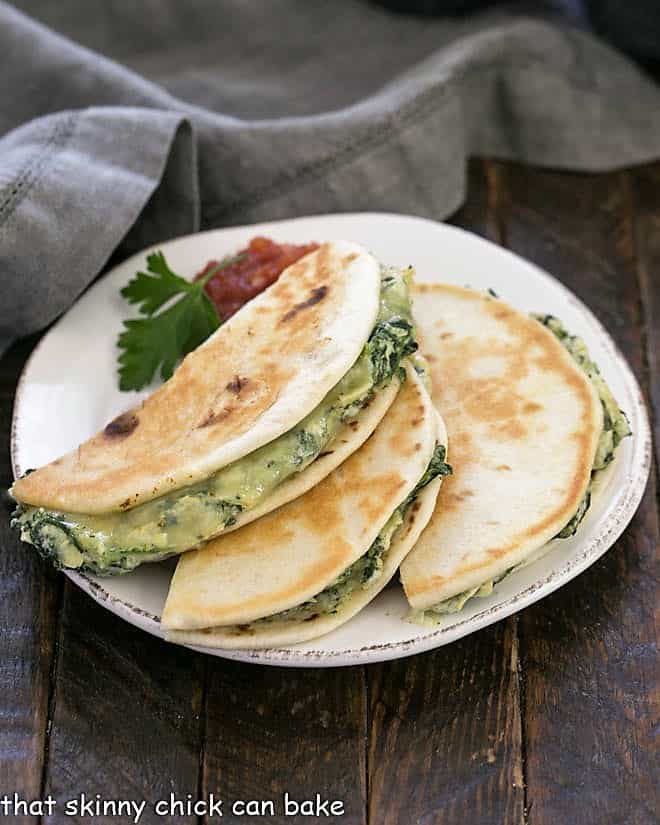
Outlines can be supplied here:
M272 647L338 627L390 580L430 517L446 433L408 361L373 435L305 495L178 562L161 618L168 638Z

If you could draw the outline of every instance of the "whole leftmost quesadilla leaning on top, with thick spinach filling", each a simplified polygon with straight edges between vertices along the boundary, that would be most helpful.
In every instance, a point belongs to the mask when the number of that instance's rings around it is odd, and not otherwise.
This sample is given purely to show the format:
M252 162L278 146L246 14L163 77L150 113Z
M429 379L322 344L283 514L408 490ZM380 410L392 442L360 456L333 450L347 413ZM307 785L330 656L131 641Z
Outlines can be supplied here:
M139 407L15 482L21 538L125 573L300 495L392 403L417 348L409 277L345 241L290 266Z

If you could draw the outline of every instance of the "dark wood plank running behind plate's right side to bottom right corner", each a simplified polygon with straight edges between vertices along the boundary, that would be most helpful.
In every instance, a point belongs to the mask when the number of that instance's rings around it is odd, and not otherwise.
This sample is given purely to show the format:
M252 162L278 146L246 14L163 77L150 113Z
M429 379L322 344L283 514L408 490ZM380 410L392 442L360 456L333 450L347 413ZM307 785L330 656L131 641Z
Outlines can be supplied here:
M627 179L501 166L508 245L600 317L644 380ZM530 825L657 822L654 484L589 571L520 617Z

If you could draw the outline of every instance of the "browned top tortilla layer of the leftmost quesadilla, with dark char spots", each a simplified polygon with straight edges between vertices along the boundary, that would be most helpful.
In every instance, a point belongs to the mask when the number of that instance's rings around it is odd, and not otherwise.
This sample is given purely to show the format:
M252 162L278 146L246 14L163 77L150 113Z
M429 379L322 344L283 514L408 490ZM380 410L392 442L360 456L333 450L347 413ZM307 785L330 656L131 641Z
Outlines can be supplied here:
M324 244L188 355L139 407L13 487L26 504L128 509L277 438L348 372L375 323L378 262Z

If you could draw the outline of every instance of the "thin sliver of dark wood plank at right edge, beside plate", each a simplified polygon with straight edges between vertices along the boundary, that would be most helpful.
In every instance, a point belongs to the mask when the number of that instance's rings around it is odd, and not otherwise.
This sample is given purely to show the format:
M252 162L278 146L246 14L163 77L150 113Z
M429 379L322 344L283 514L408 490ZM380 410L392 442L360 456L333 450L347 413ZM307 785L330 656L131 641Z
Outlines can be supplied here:
M653 406L656 464L660 464L660 163L628 176L635 215L635 246Z

